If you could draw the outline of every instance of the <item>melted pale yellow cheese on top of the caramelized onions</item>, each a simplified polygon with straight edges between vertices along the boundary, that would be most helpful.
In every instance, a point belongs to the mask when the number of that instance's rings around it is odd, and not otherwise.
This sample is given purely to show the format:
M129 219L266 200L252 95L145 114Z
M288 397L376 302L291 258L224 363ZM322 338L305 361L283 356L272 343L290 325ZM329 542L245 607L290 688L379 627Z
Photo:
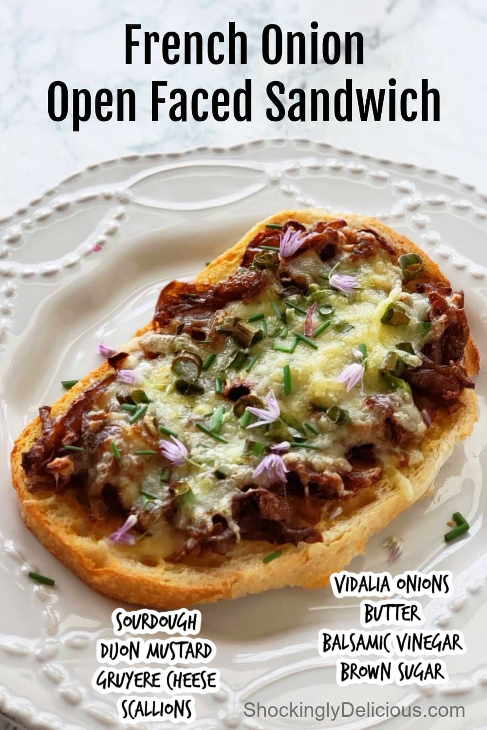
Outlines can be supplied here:
M247 360L239 369L228 366L237 345L231 336L226 337L223 349L216 353L208 369L199 375L198 383L204 388L203 393L182 395L177 392L172 361L182 349L198 353L204 361L212 352L210 344L199 344L188 335L177 338L146 335L143 337L147 342L147 337L152 337L152 342L154 337L156 340L157 337L166 337L174 339L174 342L166 348L166 353L154 358L147 358L141 347L136 347L131 353L124 367L134 369L140 383L134 386L115 381L104 396L104 407L110 411L113 425L117 426L118 435L114 440L121 458L116 485L127 509L146 509L156 513L158 503L163 499L167 486L161 482L161 471L166 462L159 455L136 454L138 450L153 449L155 439L169 439L158 431L158 426L163 426L177 434L191 459L183 466L172 468L172 483L182 494L173 524L181 528L188 524L201 525L211 521L213 515L222 515L238 536L238 526L232 520L231 502L242 485L252 483L253 470L262 458L249 453L249 439L272 445L279 440L298 443L298 437L288 437L284 430L283 437L277 434L272 439L263 427L249 429L242 426L240 419L234 415L234 403L215 392L217 376L227 385L245 381L250 392L258 396L264 405L266 396L273 390L281 415L285 414L288 423L309 424L311 428L306 426L299 439L310 448L291 446L283 455L288 464L299 458L318 472L346 472L350 469L345 459L350 447L376 437L377 415L367 407L367 398L385 391L391 391L391 403L398 423L415 434L416 445L421 442L426 427L410 391L407 387L391 389L384 380L381 366L390 353L399 353L410 366L421 363L414 353L419 353L428 337L425 328L421 328L421 323L428 318L427 296L404 291L401 268L381 250L373 258L362 261L353 262L346 257L340 261L340 274L356 276L360 287L349 294L330 288L321 275L325 266L312 253L300 255L294 266L300 266L312 277L313 283L306 296L285 299L271 290L264 291L250 304L235 301L226 307L222 313L225 318L247 321L253 315L263 314L266 336L264 334L260 342L248 348ZM329 314L315 313L315 330L329 320L329 326L311 338L315 347L299 341L293 352L276 350L275 345L292 349L294 333L303 332L303 312L309 310L312 301L326 303L328 310L332 309ZM285 312L285 322L277 317L273 303ZM388 307L397 303L407 315L407 323L401 326L382 323L381 318ZM255 321L253 326L261 328L262 320ZM413 353L397 349L397 345L404 342L410 343ZM345 366L354 361L353 349L358 345L367 348L364 388L362 391L357 385L347 391L339 376ZM248 372L246 368L251 356L258 356L258 359ZM290 366L291 372L292 391L289 395L285 395L283 384L285 366ZM129 395L134 388L142 389L149 403L143 418L131 424L131 413L121 410L119 396L120 393ZM196 423L211 430L215 409L222 405L223 425L218 432L219 440L199 430ZM340 418L338 422L330 420L326 413L330 407L338 407L347 418ZM296 431L292 430L291 434L296 434ZM385 464L391 464L395 456L404 457L399 446L382 443L378 439L375 446L377 456ZM417 447L408 447L408 451L408 458L413 461L421 459L421 451ZM144 494L150 495L149 498ZM163 522L161 520L161 529ZM150 529L157 532L158 520Z

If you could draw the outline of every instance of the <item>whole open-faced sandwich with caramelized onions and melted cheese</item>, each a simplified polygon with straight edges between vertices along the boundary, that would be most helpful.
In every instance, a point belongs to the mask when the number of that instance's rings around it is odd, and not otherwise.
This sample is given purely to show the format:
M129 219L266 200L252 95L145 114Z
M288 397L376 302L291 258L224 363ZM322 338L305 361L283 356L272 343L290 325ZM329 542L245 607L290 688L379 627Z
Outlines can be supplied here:
M85 583L180 607L326 585L477 418L464 295L373 218L280 212L42 407L23 518Z

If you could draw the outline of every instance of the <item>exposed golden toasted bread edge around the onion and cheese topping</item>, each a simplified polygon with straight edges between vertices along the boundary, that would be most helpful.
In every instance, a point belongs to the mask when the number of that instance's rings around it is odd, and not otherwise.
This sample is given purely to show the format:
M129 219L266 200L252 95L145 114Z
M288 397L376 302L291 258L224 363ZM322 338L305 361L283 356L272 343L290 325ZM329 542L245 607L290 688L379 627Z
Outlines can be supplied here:
M374 228L399 253L421 253L429 276L446 282L437 264L406 237L392 231L375 218L358 215L344 216L351 228ZM331 220L337 215L319 209L285 210L258 223L237 245L212 261L196 277L196 282L217 283L234 273L248 243L266 223L299 220L315 223ZM139 330L136 337L151 328ZM131 340L125 351L135 347ZM478 373L480 356L472 337L465 351L467 372ZM88 374L55 402L52 414L64 412L89 385L110 374L107 363ZM175 608L221 598L237 598L285 585L306 588L324 586L332 572L343 569L350 560L365 550L369 537L383 529L403 510L423 496L434 482L440 467L453 447L467 437L477 420L477 398L471 390L461 396L464 407L437 419L428 429L421 450L424 461L408 467L402 474L410 479L413 495L405 494L399 483L383 477L373 488L363 490L357 498L356 510L334 524L323 524L323 542L282 545L279 560L264 564L262 558L271 551L267 542L243 540L221 564L190 566L154 560L157 545L146 545L134 558L133 548L108 542L110 532L118 526L112 520L102 528L93 526L74 496L58 496L52 492L32 493L28 490L22 467L22 453L28 450L41 433L39 418L35 418L12 450L12 481L20 499L20 510L26 525L37 538L91 588L117 599L155 608ZM150 539L144 543L150 543ZM147 549L149 554L147 554ZM150 553L150 550L153 553ZM132 552L131 552L132 550ZM156 563L156 564L154 564Z

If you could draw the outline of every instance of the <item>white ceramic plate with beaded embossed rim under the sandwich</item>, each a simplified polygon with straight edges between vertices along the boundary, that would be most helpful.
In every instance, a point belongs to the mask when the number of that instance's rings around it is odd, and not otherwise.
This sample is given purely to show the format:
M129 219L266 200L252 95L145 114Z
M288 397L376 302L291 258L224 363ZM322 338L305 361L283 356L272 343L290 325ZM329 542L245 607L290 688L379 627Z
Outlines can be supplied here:
M101 339L116 345L150 320L164 282L193 276L256 220L314 205L375 215L423 247L453 286L466 291L472 331L485 348L487 196L434 170L297 139L130 155L85 169L0 221L0 710L9 717L46 730L118 726L117 696L91 688L94 642L112 635L116 604L85 587L23 526L10 487L14 439L39 405L61 396L61 379L99 364ZM421 727L480 727L487 686L484 373L477 392L480 422L442 469L434 495L372 539L367 556L350 566L388 569L382 543L397 534L405 539L404 555L393 572L453 571L453 599L423 601L429 624L465 634L467 653L446 659L450 683L422 690L337 687L334 663L318 656L318 630L358 627L357 600L338 601L329 590L272 591L202 607L202 634L218 647L214 664L223 690L196 700L195 727L365 728L378 722L242 715L244 702L289 700L464 704L464 719L421 719ZM446 547L445 523L456 510L471 529ZM55 588L32 583L30 569L54 577Z

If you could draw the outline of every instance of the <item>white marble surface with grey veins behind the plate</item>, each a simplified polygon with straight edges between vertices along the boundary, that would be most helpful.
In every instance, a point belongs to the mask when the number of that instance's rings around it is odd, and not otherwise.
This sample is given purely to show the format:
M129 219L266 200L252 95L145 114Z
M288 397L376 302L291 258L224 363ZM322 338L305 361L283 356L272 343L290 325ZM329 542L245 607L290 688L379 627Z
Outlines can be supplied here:
M245 7L245 10L242 9ZM318 20L324 32L361 29L364 66L311 68L266 66L260 60L261 28L277 21L288 30ZM223 28L236 20L249 39L246 67L167 66L156 55L152 66L139 57L125 66L124 26L138 22L160 33ZM309 136L372 155L413 161L452 172L487 190L485 0L3 0L0 3L0 215L34 198L74 170L131 152L177 150L194 145L231 144L241 139ZM363 88L418 88L428 77L441 92L439 123L272 123L265 118L264 88L281 79L289 88L339 87L351 73ZM150 81L193 88L239 85L253 78L251 123L150 121ZM47 115L47 87L134 88L134 123L91 120L78 133L69 120Z

